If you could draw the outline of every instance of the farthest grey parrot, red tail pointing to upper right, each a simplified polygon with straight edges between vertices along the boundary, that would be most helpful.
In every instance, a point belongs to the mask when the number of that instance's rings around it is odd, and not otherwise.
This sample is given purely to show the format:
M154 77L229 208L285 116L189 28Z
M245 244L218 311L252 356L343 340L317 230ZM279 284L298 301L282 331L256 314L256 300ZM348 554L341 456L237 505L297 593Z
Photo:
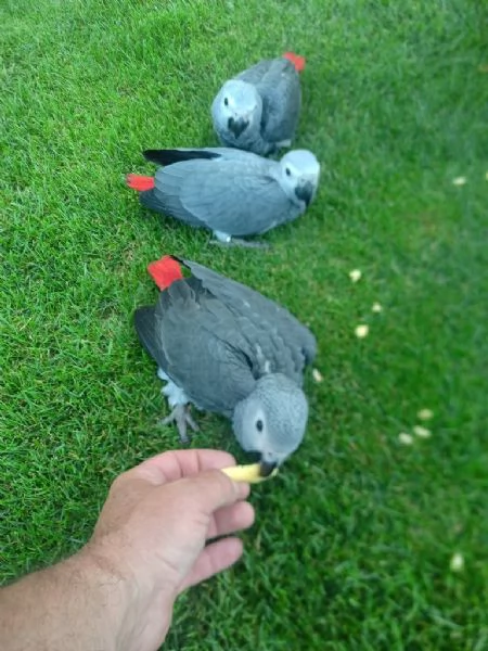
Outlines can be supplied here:
M211 104L220 142L262 156L290 146L300 112L298 73L304 66L303 56L287 52L226 81Z

